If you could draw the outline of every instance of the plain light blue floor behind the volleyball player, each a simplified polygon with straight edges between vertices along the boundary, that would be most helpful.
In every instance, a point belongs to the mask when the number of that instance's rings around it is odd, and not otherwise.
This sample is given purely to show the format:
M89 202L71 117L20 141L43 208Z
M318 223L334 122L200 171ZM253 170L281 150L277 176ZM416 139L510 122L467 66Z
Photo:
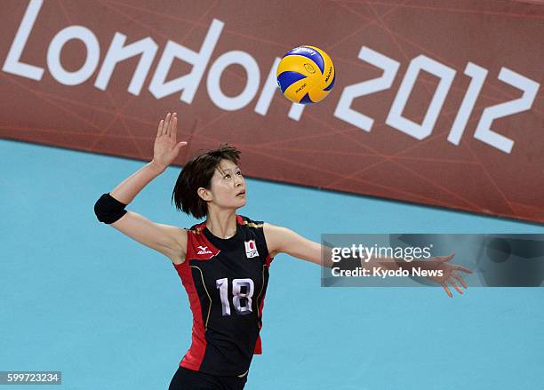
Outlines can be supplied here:
M142 162L0 140L0 370L61 370L70 390L166 389L190 340L170 261L100 224L96 199ZM242 160L242 164L244 160ZM243 166L243 165L242 165ZM179 168L129 206L188 227L170 197ZM322 233L538 233L511 220L259 180L240 211ZM249 390L544 388L544 289L320 287L278 256ZM9 386L1 386L7 389ZM53 388L13 386L15 389Z

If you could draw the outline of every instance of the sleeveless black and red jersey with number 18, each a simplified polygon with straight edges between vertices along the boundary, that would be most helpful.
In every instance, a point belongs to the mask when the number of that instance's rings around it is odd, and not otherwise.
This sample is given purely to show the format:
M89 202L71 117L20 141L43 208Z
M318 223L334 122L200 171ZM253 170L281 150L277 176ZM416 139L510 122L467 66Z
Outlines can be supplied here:
M270 256L263 224L236 216L236 235L221 239L205 222L187 231L187 255L174 265L193 312L189 370L242 375L260 354L261 314Z

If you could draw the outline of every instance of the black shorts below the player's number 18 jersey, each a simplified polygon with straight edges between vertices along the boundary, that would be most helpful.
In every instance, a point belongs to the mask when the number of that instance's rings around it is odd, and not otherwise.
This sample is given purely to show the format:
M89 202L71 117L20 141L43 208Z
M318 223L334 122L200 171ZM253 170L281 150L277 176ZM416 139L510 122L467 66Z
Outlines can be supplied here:
M223 377L181 367L176 371L168 390L242 390L247 382L244 377Z

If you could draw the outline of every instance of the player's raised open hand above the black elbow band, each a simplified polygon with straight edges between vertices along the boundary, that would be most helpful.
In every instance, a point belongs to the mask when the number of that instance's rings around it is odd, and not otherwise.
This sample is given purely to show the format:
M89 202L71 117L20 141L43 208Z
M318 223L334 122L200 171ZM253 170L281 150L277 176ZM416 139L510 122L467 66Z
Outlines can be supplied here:
M158 125L153 147L153 162L164 169L180 154L180 148L187 145L185 141L176 142L177 131L177 114L168 113Z

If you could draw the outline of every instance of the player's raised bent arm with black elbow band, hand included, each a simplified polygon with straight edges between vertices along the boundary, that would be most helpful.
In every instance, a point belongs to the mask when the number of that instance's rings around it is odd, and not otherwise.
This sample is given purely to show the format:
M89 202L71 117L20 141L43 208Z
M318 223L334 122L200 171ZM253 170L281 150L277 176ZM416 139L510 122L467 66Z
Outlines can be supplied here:
M153 160L139 171L124 179L109 194L104 194L94 205L94 212L101 222L110 224L124 235L159 251L180 263L185 259L187 232L180 227L157 224L124 206L131 203L143 187L160 175L180 153L187 142L176 142L178 118L176 113L166 115L158 125Z

